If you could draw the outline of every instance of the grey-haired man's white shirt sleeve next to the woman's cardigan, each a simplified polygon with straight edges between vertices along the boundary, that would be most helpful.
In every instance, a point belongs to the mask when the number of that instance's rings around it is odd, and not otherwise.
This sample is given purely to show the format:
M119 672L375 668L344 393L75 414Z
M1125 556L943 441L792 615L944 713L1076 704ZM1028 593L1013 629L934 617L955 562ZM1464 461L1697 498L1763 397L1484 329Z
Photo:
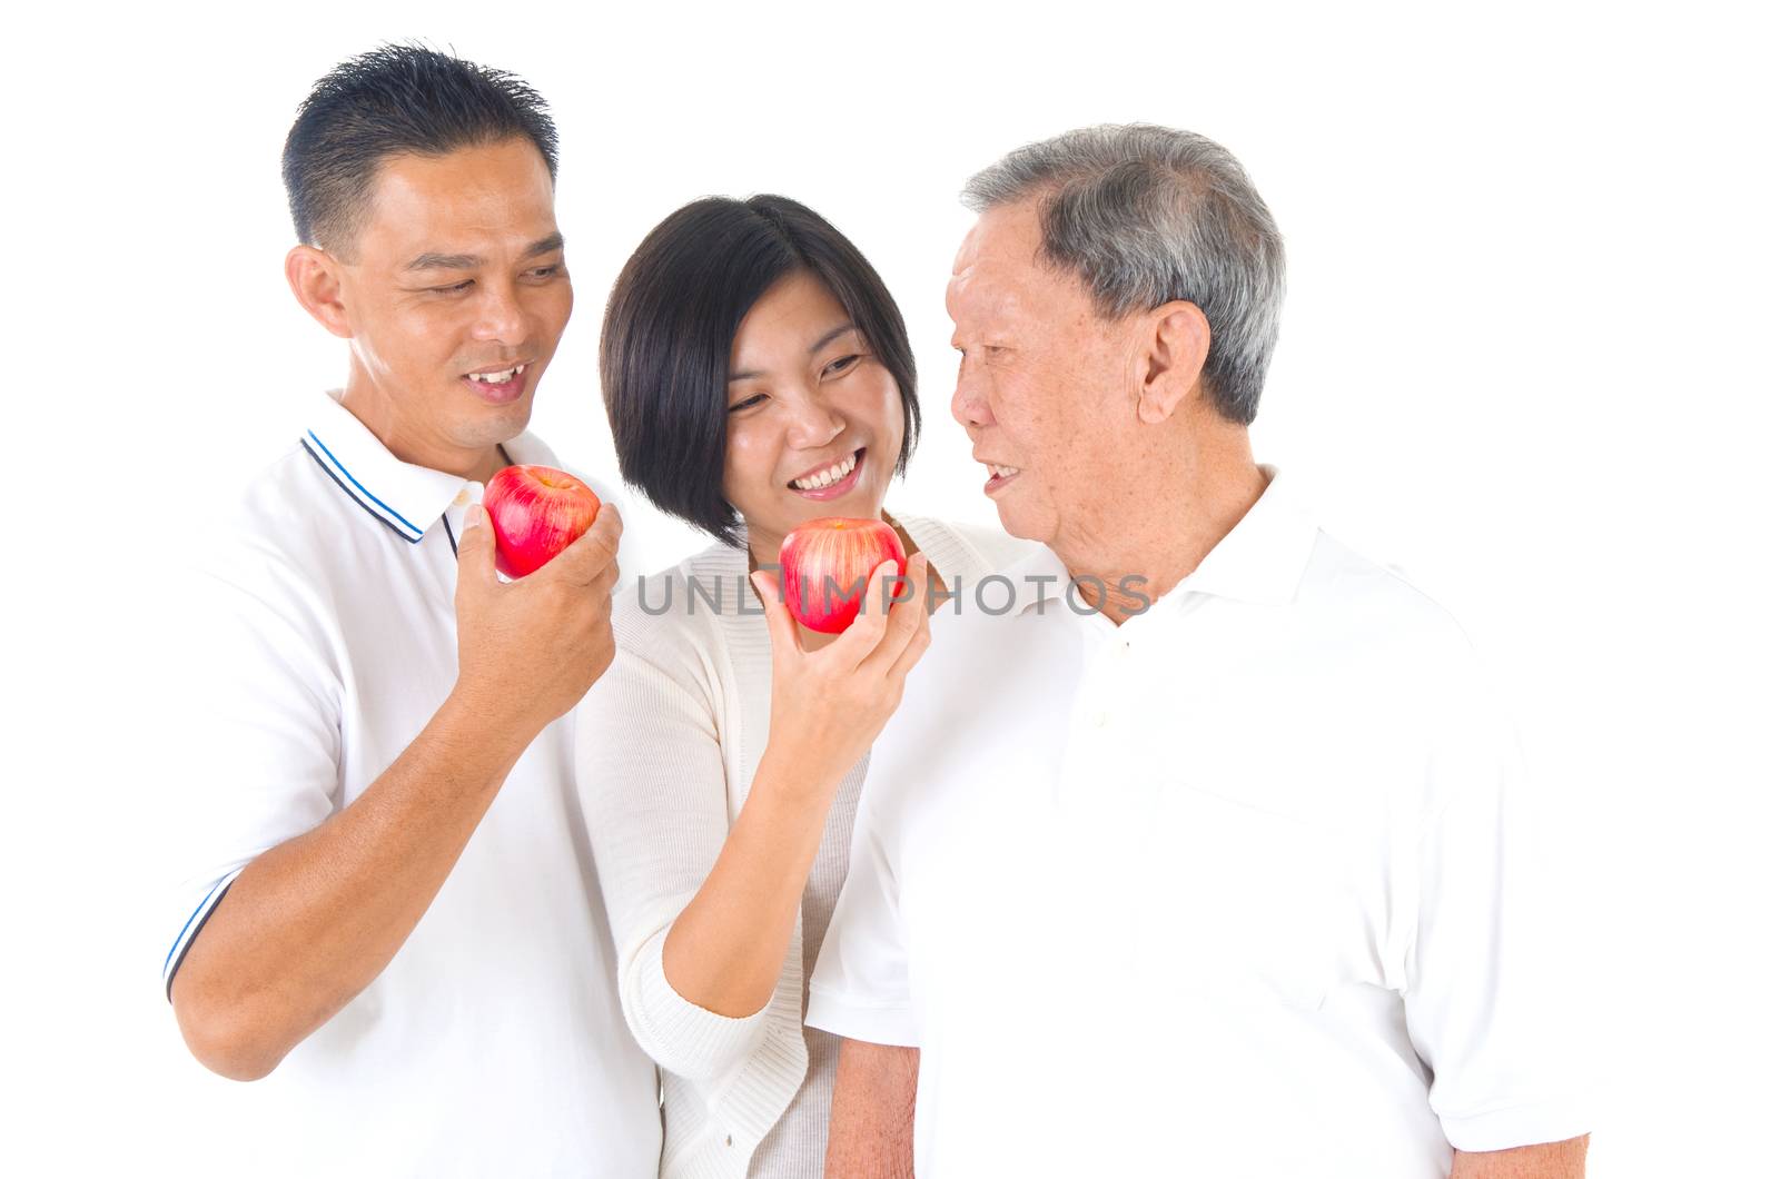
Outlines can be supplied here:
M810 974L805 1022L849 1040L920 1047L895 866L872 807L870 769L853 821L847 880Z

